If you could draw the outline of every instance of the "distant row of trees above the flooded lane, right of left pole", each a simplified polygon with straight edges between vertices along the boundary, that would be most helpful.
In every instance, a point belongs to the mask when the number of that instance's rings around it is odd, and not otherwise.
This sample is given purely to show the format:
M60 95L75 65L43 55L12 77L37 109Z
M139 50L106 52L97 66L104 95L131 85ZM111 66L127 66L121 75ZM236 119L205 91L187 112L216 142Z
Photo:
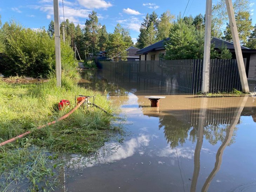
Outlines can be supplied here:
M69 22L68 19L63 21L60 24L60 33L62 36L62 26L65 26L65 41L69 42L71 47L76 44L83 59L86 59L89 54L96 56L107 50L108 58L125 60L127 53L124 50L133 46L129 30L117 23L114 32L108 33L106 26L99 23L97 12L92 11L88 18L83 29L79 24L75 27L74 23ZM49 23L48 34L51 37L54 35L54 21Z

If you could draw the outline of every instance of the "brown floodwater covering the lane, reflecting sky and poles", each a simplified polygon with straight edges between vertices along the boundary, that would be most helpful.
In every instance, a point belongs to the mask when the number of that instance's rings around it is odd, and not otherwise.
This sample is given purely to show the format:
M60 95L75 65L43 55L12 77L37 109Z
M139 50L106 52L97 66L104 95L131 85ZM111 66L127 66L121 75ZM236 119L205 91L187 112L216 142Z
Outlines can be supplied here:
M82 86L121 107L129 134L106 143L96 159L74 157L83 163L65 170L61 190L256 191L255 97L168 95L93 71L84 78ZM159 108L144 98L151 94L166 96Z

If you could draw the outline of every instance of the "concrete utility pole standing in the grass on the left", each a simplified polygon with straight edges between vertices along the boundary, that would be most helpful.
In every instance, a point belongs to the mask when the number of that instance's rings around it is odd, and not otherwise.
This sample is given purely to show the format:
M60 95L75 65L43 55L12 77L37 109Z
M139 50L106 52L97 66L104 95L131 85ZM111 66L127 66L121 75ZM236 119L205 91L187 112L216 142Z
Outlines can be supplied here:
M61 87L59 0L53 0L57 87Z

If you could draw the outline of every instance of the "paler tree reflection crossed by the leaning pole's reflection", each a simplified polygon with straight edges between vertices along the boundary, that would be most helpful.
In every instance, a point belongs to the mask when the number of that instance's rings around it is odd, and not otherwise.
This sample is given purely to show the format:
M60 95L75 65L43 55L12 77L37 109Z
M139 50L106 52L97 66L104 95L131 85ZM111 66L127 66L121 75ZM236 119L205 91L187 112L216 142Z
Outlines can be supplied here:
M218 141L224 142L229 124L207 125L204 127L204 136L210 144L215 145ZM235 127L229 145L235 143L237 128Z

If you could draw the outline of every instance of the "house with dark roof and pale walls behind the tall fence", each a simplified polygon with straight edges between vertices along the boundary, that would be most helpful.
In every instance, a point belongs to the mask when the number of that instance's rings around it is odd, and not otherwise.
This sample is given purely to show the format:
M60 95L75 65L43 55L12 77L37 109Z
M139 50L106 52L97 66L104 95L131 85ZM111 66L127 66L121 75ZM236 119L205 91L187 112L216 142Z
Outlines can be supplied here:
M169 40L167 38L166 40ZM234 44L222 39L218 39L213 37L211 39L211 43L215 44L215 49L218 50L218 47L221 47L222 44L227 46L227 48L232 53L232 58L236 59L235 55L235 47ZM256 80L256 49L249 49L247 47L241 46L243 58L246 59L245 64L245 71L248 80L255 81ZM140 57L140 61L148 61L154 60L159 61L164 59L164 55L166 54L166 50L164 48L164 40L151 44L148 47L140 49L136 52L135 55Z

